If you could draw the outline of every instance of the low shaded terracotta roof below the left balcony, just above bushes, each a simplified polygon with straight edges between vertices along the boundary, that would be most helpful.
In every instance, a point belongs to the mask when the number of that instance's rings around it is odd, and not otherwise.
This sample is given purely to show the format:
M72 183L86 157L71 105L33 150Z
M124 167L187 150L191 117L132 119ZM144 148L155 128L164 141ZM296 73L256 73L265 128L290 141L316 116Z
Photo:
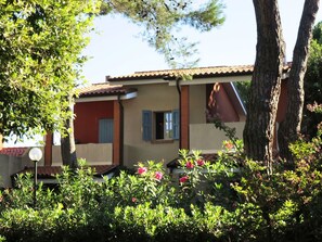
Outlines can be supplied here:
M117 166L115 165L96 165L88 166L95 170L94 176L107 175L113 171ZM34 167L26 167L17 174L34 173ZM62 173L61 166L38 166L37 167L37 177L38 178L54 178L55 175Z

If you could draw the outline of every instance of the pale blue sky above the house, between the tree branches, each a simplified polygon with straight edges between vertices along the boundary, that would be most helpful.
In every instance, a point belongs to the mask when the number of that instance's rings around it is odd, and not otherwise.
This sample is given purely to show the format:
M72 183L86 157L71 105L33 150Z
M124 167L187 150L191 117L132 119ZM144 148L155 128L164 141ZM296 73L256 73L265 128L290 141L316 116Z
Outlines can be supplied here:
M198 1L195 1L198 2ZM305 0L280 0L286 60L292 53ZM253 0L222 0L226 22L209 33L188 29L182 33L197 41L198 67L254 64L256 53L256 20ZM317 22L322 21L322 7ZM83 54L90 60L82 73L88 82L103 82L105 76L120 76L139 71L166 69L169 66L139 33L142 28L120 15L107 15L94 21L96 33Z

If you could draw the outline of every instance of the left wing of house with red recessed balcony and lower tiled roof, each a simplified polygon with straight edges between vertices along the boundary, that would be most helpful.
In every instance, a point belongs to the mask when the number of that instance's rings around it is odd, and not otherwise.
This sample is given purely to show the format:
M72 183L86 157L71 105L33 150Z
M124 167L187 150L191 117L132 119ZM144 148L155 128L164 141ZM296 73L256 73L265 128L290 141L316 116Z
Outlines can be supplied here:
M137 90L110 84L96 84L79 90L74 106L74 133L77 156L90 165L118 165L123 160L123 106L134 99ZM46 164L62 165L61 149L47 139Z

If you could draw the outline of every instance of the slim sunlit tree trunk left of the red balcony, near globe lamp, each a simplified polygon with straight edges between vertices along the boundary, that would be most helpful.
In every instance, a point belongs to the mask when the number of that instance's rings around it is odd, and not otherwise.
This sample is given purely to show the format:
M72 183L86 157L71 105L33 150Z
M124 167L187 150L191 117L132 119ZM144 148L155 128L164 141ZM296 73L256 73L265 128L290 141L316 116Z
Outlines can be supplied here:
M69 168L75 169L78 167L78 163L74 138L74 116L72 113L72 101L69 103L70 106L68 107L68 112L70 112L70 115L69 118L65 122L65 128L67 130L67 133L63 135L61 138L61 154L63 165L69 166Z

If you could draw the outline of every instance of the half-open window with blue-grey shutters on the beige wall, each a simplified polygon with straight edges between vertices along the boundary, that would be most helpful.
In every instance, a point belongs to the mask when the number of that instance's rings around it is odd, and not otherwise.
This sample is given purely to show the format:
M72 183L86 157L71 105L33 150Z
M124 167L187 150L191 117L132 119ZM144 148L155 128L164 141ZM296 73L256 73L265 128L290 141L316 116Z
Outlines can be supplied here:
M142 112L143 140L179 139L179 111Z

